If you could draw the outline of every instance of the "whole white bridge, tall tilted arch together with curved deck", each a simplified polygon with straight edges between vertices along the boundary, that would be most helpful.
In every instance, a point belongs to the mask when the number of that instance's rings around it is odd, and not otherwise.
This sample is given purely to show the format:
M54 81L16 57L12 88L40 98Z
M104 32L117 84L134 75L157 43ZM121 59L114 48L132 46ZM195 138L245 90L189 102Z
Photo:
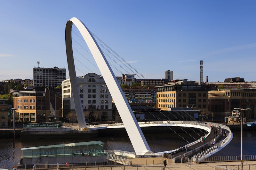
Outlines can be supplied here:
M72 26L75 25L76 28L81 33L84 41L86 42L88 48L90 49L92 56L97 63L99 70L104 77L105 83L108 86L108 90L112 96L112 99L115 102L116 108L119 112L119 115L122 119L122 124L114 124L114 125L93 125L93 126L86 126L86 122L84 119L83 114L83 108L81 104L81 98L79 95L79 87L77 85L77 79L76 79L76 69L74 64L74 56L73 56L73 48L72 48ZM208 133L205 135L207 138L209 135L212 135L212 129L210 128L210 123L200 123L200 122L140 122L138 123L132 109L124 95L124 92L122 91L119 83L117 82L117 79L106 59L104 56L104 53L100 49L100 46L98 45L97 41L93 37L90 30L84 25L82 21L80 21L77 18L71 18L67 21L66 24L66 30L65 30L65 40L66 40L66 53L67 53L67 62L68 62L68 70L69 70L69 76L70 76L70 84L71 84L71 93L74 99L75 104L75 110L77 115L77 121L79 125L80 130L87 130L89 129L104 129L104 128L125 128L126 132L131 140L132 146L134 148L134 151L136 152L135 155L144 155L149 156L152 154L164 154L164 153L176 153L180 152L181 150L185 149L185 146L182 146L178 149L175 149L173 151L164 151L159 153L153 153L150 151L150 148L148 146L148 143L144 137L144 134L142 133L142 130L140 127L143 126L180 126L180 127L193 127L193 128L199 128L204 129ZM228 144L233 135L230 129L227 126L221 125L221 124L214 124L215 127L220 126L221 129L226 129L228 131L228 136L225 137L225 141L221 140L219 144L215 144L214 146L211 146L207 149L205 152L200 152L200 155L196 155L195 159L201 159L203 156L210 156L214 152L217 152L219 149L224 147L226 144ZM221 130L220 129L220 130ZM215 138L214 138L215 139ZM209 144L210 141L207 142ZM196 147L199 143L199 139L196 140L193 143L188 144L188 148L191 148L192 146ZM201 148L201 146L200 146ZM195 148L198 149L198 148ZM188 152L192 154L192 152ZM188 156L188 153L184 153L184 156ZM194 153L194 152L193 152Z

